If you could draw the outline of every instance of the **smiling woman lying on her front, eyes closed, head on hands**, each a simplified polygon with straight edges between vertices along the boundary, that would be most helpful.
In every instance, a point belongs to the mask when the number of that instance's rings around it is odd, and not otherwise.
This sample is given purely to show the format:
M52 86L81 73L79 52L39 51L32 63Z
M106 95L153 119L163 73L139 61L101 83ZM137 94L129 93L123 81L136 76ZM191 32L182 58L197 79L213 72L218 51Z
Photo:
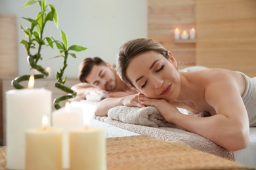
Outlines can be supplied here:
M167 122L228 150L247 146L249 127L256 126L256 78L226 69L181 73L173 54L151 39L123 44L117 73L139 92L141 107L156 107ZM188 116L177 107L211 116Z

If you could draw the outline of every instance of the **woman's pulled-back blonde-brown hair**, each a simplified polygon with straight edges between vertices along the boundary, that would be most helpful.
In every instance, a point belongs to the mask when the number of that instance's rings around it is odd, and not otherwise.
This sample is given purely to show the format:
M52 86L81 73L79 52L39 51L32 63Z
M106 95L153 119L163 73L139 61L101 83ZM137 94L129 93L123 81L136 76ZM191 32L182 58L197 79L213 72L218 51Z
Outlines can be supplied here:
M123 44L119 48L118 56L116 58L117 74L119 75L121 80L123 80L130 87L135 87L126 75L126 70L131 59L138 54L149 51L158 52L165 58L169 58L167 50L163 46L161 46L160 43L152 39L133 39L131 41L125 42L125 44Z

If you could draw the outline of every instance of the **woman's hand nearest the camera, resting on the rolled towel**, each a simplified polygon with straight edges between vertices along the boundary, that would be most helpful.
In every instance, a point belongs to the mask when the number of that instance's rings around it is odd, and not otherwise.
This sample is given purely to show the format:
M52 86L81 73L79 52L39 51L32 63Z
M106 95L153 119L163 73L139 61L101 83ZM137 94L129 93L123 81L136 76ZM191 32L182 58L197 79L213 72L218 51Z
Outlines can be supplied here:
M156 107L163 118L165 118L165 120L169 123L175 123L172 121L173 116L175 116L177 113L181 113L175 106L165 99L151 99L142 93L139 93L138 99L141 105Z

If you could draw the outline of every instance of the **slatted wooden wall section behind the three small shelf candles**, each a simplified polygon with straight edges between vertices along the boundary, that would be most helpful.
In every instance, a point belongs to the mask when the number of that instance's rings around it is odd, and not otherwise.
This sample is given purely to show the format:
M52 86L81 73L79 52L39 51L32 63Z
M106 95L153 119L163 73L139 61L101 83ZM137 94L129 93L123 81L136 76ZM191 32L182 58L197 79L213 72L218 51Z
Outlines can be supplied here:
M196 64L195 43L175 43L176 27L188 31L196 28L196 0L148 0L148 38L160 42L181 67Z

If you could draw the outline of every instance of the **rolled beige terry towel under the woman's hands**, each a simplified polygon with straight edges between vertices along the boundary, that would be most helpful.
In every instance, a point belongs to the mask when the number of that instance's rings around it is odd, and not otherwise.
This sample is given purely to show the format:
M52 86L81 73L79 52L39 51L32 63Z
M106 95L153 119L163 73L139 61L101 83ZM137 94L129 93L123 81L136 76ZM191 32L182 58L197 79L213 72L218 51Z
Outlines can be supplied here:
M108 110L112 120L150 127L177 127L167 122L156 107L117 106Z

